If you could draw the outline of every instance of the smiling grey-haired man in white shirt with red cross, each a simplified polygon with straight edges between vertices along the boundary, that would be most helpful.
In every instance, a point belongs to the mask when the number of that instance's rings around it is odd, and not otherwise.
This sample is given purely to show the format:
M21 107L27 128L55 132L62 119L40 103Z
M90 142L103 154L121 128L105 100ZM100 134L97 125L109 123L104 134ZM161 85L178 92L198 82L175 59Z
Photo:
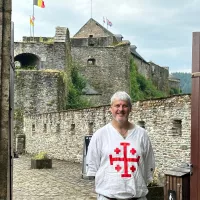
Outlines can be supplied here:
M95 176L98 200L146 200L155 160L147 131L128 120L131 108L130 96L116 92L111 98L112 121L90 141L87 176Z

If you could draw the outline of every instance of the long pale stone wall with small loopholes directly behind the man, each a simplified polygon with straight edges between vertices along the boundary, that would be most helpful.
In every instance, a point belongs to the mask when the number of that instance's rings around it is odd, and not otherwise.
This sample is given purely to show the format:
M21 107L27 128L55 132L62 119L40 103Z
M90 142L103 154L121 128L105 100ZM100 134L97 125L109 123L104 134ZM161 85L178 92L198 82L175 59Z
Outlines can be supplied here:
M82 162L84 136L110 120L109 106L27 115L26 151L45 151L52 158ZM190 161L190 95L135 102L130 120L145 125L160 172Z

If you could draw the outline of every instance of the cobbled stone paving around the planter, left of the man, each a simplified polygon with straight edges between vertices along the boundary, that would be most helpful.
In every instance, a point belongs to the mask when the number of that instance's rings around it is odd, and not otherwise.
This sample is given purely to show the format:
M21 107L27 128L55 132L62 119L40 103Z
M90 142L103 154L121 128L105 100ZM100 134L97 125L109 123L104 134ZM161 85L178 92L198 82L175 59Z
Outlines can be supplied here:
M13 161L13 200L95 200L94 180L82 179L82 165L53 160L52 169L31 169L31 158Z

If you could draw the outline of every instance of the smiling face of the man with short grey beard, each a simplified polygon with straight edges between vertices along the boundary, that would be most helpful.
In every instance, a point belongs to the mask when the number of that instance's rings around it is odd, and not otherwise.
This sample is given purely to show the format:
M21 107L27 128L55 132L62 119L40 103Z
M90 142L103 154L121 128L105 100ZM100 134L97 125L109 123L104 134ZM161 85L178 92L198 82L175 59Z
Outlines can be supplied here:
M115 99L110 107L110 111L114 120L123 123L128 120L131 108L127 101Z

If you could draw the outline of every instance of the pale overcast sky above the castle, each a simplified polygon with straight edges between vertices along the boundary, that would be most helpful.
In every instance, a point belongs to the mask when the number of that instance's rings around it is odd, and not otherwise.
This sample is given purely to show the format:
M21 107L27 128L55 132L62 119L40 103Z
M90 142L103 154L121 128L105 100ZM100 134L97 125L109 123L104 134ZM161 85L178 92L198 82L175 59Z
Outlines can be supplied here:
M44 0L34 6L34 35L53 37L55 28L69 28L70 36L91 18L91 0ZM15 41L30 36L33 0L12 0ZM170 72L191 72L192 32L200 31L200 0L92 0L92 18L103 25L103 16L137 46L146 60L168 66ZM105 25L106 27L106 25Z

